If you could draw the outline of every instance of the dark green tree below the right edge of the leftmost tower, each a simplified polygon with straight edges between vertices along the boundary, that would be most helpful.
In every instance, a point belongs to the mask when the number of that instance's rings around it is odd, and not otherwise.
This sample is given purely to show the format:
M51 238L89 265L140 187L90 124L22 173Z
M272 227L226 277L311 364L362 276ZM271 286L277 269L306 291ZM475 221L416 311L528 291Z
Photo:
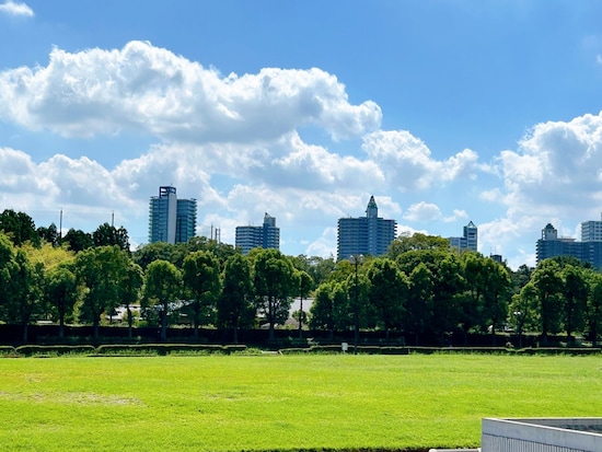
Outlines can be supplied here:
M198 339L201 312L206 316L212 314L220 294L219 262L212 253L197 251L184 258L182 270L184 287L193 298L189 306L193 311L195 339Z

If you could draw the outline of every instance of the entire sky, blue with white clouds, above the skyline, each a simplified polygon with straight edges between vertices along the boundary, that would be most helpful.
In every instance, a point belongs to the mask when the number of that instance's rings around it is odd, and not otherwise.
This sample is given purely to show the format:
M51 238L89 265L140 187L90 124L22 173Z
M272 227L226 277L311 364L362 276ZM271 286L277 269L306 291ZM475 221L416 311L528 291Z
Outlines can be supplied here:
M160 185L198 233L276 217L336 255L370 195L400 233L535 264L602 212L598 1L0 0L0 209L148 240Z

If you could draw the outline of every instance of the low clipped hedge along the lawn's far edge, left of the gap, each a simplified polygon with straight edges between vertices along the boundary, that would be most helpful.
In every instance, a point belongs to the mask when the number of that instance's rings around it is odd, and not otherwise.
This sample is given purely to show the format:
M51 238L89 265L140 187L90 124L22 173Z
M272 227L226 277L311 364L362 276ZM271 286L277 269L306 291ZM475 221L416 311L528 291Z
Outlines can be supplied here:
M170 354L225 354L246 350L245 345L206 345L206 344L140 344L140 345L24 345L20 347L0 346L0 356L131 356L131 355L170 355Z

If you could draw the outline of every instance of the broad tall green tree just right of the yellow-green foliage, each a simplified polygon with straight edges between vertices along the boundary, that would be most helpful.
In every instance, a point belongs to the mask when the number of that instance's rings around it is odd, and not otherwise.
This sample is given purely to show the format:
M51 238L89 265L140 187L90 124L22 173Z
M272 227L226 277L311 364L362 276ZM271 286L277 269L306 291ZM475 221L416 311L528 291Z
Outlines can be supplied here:
M120 304L128 266L128 255L117 245L88 248L76 257L76 276L84 287L80 318L92 322L95 341L102 315Z

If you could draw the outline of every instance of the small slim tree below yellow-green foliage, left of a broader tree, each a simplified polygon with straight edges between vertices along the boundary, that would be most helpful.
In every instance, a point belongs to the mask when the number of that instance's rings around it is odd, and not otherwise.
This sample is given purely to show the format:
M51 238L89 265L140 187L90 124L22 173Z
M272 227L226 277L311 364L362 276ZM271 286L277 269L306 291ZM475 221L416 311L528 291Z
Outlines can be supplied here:
M81 298L81 290L78 287L71 263L59 264L47 271L46 298L57 312L58 336L62 339L65 337L65 318L72 315L73 309Z

